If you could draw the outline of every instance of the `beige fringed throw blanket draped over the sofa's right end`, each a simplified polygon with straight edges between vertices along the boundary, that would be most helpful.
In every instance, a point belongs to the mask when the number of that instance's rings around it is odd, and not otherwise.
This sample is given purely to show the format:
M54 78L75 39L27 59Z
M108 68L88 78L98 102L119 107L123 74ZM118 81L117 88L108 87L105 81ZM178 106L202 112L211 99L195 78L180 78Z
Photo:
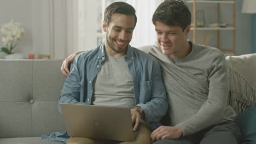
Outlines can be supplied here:
M229 105L241 113L256 104L256 53L227 56L229 68Z

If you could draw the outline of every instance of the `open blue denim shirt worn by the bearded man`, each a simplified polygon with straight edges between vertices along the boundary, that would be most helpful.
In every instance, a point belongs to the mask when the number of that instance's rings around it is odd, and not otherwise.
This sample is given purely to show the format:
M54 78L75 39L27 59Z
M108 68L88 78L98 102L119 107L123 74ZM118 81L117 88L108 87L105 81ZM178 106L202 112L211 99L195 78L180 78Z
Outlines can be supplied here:
M104 44L75 57L59 98L60 112L60 103L92 104L93 81L104 61ZM153 56L129 45L125 62L133 80L136 105L142 107L145 114L144 122L154 130L160 126L159 121L168 109L158 61Z

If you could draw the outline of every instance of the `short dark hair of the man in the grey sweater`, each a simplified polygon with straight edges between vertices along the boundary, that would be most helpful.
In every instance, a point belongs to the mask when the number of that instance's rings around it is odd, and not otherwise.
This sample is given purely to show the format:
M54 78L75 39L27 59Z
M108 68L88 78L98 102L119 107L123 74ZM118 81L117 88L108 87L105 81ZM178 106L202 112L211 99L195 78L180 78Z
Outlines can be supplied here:
M184 31L191 23L191 13L184 1L165 0L153 14L152 22L154 25L156 21L163 22L168 26L179 26Z

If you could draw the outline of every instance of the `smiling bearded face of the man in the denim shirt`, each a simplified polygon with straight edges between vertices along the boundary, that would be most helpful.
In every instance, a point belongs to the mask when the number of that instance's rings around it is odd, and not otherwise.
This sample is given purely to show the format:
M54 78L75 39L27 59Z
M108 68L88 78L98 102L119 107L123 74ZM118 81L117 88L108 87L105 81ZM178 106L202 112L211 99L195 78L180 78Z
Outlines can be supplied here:
M108 25L103 22L103 31L106 32L106 52L113 57L124 56L132 39L134 27L133 15L113 14Z

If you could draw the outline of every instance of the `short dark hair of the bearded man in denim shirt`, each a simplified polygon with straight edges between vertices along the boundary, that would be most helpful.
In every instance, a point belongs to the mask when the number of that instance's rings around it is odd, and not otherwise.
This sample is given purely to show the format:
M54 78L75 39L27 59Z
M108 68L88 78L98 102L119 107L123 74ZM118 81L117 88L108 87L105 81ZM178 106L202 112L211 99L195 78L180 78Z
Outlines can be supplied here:
M114 2L105 9L104 11L104 21L109 24L111 21L113 14L125 14L125 15L133 15L135 19L135 25L137 23L137 16L135 14L136 10L130 5L125 2Z

